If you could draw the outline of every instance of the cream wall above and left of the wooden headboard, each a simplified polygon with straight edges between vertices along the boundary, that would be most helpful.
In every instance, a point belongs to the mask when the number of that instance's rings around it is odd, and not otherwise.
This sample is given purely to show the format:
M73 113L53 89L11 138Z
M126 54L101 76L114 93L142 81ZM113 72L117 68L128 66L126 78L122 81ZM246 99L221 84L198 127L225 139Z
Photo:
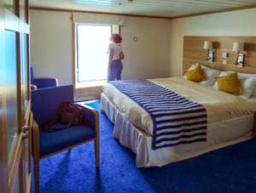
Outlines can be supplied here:
M170 75L182 74L184 36L256 36L256 9L171 20Z

